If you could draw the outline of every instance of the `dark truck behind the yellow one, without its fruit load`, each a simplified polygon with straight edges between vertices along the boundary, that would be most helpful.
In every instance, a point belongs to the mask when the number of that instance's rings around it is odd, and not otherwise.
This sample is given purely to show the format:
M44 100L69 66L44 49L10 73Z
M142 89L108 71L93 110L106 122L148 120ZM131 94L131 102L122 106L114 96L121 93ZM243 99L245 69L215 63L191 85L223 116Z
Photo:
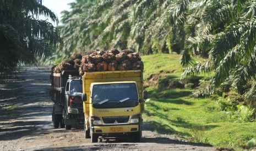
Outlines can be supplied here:
M82 84L79 73L65 70L51 74L51 100L55 102L52 110L53 126L70 130L72 126L84 124L83 102L81 101ZM77 91L73 93L73 87ZM72 91L72 93L70 93Z

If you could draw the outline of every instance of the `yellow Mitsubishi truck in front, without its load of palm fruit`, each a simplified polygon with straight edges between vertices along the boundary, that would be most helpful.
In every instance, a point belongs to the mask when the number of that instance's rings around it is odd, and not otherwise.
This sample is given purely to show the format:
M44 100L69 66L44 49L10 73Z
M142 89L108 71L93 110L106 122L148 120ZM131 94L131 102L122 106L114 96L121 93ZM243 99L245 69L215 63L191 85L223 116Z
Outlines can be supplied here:
M85 72L83 106L85 138L130 136L141 140L144 102L143 73L140 70Z

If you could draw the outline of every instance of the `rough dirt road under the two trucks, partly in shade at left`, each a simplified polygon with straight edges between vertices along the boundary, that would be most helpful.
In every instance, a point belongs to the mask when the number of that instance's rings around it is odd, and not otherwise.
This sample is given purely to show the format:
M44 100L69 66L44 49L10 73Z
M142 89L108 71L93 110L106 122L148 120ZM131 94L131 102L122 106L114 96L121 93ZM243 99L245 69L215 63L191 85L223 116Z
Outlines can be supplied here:
M147 123L141 143L125 137L90 143L83 127L54 129L50 73L50 67L21 68L0 83L0 150L214 150L154 133Z

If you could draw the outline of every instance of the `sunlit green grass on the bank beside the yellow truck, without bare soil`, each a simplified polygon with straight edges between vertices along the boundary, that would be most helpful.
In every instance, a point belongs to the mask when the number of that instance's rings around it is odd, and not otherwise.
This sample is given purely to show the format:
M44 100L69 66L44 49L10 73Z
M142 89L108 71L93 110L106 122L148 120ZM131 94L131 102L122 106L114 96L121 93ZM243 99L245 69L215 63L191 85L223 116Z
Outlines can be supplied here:
M179 57L168 54L143 56L144 80L160 71L164 71L161 72L161 80L179 80L182 74ZM211 144L214 147L241 150L255 146L250 146L247 142L252 138L256 140L256 122L235 123L228 112L219 109L216 100L190 97L193 89L180 89L175 86L159 88L152 85L146 90L149 92L149 100L145 103L143 118L155 126L157 132L192 142Z

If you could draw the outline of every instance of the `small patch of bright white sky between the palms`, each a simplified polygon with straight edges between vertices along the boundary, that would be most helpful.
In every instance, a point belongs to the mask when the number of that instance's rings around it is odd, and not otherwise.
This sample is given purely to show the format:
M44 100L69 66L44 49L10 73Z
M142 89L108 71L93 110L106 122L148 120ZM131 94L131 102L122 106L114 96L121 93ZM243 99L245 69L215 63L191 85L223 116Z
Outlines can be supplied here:
M51 9L58 16L59 21L61 21L61 11L70 10L68 3L72 3L74 1L75 0L42 0L42 5ZM49 21L51 22L51 20Z

